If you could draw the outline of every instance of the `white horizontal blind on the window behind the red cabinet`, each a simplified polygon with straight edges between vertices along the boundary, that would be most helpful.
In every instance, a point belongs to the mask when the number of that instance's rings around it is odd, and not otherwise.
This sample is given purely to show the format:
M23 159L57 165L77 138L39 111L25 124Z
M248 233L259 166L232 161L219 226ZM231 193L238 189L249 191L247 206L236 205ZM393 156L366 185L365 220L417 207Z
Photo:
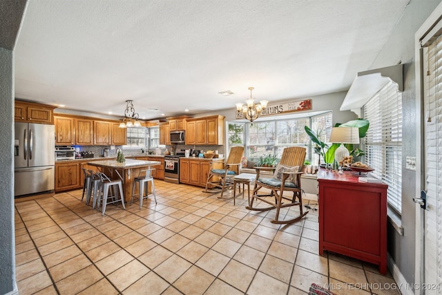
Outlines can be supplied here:
M388 184L387 202L402 211L402 95L390 82L363 106L370 123L365 136L365 162Z

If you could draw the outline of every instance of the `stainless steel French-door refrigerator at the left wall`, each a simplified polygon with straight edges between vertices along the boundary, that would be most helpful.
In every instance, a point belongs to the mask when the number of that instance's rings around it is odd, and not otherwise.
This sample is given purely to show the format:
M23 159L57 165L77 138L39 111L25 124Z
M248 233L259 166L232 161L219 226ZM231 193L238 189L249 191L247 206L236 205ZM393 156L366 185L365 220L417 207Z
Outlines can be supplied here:
M55 189L54 125L15 122L14 196Z

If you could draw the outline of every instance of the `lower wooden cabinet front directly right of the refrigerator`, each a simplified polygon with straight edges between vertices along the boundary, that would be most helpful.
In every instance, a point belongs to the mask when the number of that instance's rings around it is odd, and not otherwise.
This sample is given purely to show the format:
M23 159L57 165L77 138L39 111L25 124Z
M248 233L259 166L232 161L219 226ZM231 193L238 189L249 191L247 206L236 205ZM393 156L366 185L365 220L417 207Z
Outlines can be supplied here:
M79 162L55 163L55 191L81 187Z

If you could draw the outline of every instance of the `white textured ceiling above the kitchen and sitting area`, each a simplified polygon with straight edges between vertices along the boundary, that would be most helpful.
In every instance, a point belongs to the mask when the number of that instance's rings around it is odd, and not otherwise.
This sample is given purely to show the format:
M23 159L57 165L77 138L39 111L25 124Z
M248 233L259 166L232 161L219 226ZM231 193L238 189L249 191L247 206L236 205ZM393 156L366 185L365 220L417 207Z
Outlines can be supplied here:
M15 94L154 119L345 91L409 1L29 0Z

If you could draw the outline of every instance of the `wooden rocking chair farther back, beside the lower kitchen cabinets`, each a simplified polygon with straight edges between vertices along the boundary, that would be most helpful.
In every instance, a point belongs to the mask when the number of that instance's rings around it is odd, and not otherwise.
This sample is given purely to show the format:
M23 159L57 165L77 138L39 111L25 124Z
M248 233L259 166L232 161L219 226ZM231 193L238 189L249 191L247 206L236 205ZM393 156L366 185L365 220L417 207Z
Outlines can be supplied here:
M233 187L233 176L240 173L240 165L242 153L244 153L244 146L233 146L229 152L229 158L223 163L221 169L213 169L213 164L220 164L220 162L211 162L211 168L207 175L206 189L204 192L211 193L208 188L220 188L221 196L225 189Z

